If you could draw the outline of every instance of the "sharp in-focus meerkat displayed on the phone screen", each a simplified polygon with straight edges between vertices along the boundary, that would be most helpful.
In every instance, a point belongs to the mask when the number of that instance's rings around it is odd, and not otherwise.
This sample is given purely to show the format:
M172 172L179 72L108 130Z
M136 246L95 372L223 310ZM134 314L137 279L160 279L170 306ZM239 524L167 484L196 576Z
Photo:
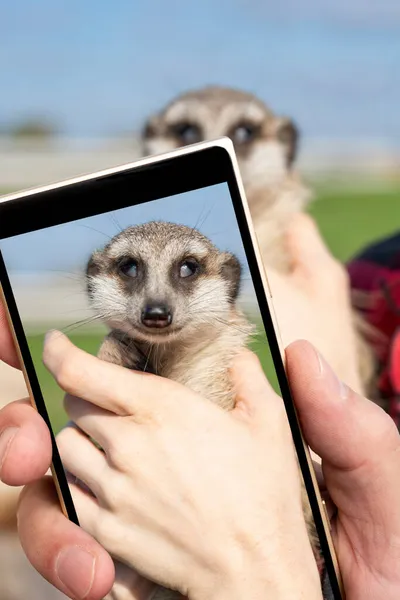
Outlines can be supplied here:
M254 332L238 306L241 265L196 229L166 222L132 226L87 264L87 294L110 329L98 357L167 377L224 410L235 403L229 370ZM302 506L321 566L302 477ZM155 598L179 597L160 588Z

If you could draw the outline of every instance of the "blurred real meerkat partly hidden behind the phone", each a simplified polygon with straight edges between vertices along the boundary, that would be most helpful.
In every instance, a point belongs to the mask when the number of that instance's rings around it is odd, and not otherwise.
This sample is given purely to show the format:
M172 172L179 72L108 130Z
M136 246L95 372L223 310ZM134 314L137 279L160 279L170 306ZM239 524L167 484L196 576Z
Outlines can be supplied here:
M276 115L253 94L204 87L174 98L150 116L142 130L142 152L159 154L220 136L234 144L263 262L287 272L285 232L291 218L313 200L295 168L300 136L291 118ZM371 331L357 310L353 321L363 391L374 398L376 361L367 342Z

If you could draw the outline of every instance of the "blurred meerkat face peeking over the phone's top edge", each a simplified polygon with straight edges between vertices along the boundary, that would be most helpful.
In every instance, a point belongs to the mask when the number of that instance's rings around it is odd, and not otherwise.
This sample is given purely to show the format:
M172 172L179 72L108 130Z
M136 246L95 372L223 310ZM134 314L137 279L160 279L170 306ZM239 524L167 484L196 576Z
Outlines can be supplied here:
M298 131L255 96L207 87L176 98L151 117L142 132L144 154L229 137L235 146L245 188L279 184L296 157Z

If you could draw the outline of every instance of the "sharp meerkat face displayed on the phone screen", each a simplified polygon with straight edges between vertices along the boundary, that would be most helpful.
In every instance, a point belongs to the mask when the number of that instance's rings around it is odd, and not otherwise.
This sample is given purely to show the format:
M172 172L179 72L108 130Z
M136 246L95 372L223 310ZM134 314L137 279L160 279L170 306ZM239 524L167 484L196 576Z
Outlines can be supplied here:
M240 286L240 264L198 231L150 222L125 229L87 265L96 314L111 329L151 343L223 324Z

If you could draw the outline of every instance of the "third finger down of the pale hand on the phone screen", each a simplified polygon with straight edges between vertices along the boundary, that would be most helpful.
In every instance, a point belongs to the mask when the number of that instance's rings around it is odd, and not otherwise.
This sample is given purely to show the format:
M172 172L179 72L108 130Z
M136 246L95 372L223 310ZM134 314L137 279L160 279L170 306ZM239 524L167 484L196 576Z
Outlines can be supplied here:
M64 468L98 496L104 480L108 481L111 476L104 452L73 426L63 429L56 441Z

